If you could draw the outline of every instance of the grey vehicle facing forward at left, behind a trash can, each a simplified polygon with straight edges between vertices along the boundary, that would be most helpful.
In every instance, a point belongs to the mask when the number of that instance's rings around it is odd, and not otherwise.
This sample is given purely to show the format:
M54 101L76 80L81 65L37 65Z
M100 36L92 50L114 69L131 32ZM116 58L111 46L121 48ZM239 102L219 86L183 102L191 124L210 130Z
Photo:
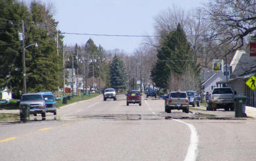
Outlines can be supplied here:
M45 98L45 100L47 100ZM46 117L46 104L45 100L41 94L34 93L34 94L23 94L20 100L20 118L22 119L22 108L28 106L30 114L41 114L42 120L45 120Z

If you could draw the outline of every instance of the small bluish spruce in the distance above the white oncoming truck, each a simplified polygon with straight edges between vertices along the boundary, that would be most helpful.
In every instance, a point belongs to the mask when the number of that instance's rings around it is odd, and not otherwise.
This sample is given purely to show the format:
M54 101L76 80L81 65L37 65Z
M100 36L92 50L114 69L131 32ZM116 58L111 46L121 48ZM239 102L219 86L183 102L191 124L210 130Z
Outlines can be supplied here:
M112 88L125 89L127 82L127 73L124 62L115 55L110 65L110 83Z

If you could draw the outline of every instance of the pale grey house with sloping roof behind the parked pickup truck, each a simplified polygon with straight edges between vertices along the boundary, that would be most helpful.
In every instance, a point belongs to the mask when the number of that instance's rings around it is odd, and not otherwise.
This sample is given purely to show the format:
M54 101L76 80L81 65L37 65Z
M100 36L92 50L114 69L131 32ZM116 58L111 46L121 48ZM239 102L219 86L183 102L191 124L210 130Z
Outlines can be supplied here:
M226 86L226 76L228 75L228 79L230 78L231 68L229 65L228 66L224 65L223 69L224 69L223 73L222 72L213 73L212 71L207 71L207 72L203 71L203 74L201 75L201 79L203 80L201 84L202 98L205 98L207 92L210 94L213 88Z

